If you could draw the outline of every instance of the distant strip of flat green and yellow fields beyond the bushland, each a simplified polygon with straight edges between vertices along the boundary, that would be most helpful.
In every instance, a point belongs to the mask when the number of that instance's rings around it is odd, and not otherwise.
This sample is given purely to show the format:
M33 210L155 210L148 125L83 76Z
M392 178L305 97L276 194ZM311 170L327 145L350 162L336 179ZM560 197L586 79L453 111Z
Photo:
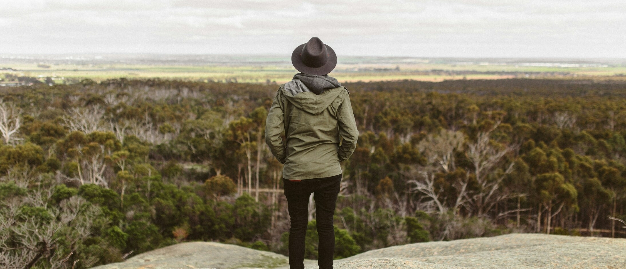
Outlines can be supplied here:
M90 78L102 81L110 78L167 78L194 81L233 81L244 83L285 83L297 71L287 64L267 65L157 65L157 64L50 64L49 68L37 63L4 63L1 70L18 76L51 77L55 83ZM414 79L443 81L446 79L501 79L501 78L587 78L613 77L623 79L626 66L608 67L548 67L481 65L475 64L338 64L331 76L341 82L390 81Z

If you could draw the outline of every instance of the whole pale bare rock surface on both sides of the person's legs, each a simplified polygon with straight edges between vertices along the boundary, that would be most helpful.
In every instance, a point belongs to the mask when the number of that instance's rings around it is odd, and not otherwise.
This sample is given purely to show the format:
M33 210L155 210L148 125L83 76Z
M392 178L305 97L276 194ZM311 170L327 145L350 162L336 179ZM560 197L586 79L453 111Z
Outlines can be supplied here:
M306 261L317 268L316 261ZM181 243L97 269L289 268L287 257L213 242ZM543 234L437 241L371 250L336 269L626 269L626 239Z

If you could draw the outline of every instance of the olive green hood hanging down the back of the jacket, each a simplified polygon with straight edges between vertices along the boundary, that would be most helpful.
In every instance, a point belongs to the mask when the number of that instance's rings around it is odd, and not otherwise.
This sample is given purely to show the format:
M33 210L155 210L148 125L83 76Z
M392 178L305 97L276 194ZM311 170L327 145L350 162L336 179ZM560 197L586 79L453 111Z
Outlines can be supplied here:
M293 95L290 91L285 89L284 84L282 84L280 85L280 91L282 91L282 95L285 96L287 101L296 108L317 115L330 106L335 99L341 98L342 93L347 91L347 89L341 86L339 88L327 89L321 94L305 91Z

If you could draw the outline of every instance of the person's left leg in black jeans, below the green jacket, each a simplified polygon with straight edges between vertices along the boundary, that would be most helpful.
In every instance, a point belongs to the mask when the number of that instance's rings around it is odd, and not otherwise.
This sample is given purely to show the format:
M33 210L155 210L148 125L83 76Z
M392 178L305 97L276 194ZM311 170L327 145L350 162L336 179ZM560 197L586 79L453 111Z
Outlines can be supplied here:
M309 217L309 195L302 188L302 182L283 179L287 208L291 226L289 227L289 268L304 269L304 238Z

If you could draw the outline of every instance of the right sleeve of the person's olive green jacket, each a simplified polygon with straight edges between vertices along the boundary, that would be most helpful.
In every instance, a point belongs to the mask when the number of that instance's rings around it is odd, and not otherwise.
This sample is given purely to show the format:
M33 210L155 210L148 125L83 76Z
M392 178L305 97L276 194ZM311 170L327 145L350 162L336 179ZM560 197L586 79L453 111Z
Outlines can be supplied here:
M356 148L356 141L359 139L359 130L356 128L348 94L337 109L337 121L339 121L339 137L342 139L339 146L339 162L342 162L350 158Z

